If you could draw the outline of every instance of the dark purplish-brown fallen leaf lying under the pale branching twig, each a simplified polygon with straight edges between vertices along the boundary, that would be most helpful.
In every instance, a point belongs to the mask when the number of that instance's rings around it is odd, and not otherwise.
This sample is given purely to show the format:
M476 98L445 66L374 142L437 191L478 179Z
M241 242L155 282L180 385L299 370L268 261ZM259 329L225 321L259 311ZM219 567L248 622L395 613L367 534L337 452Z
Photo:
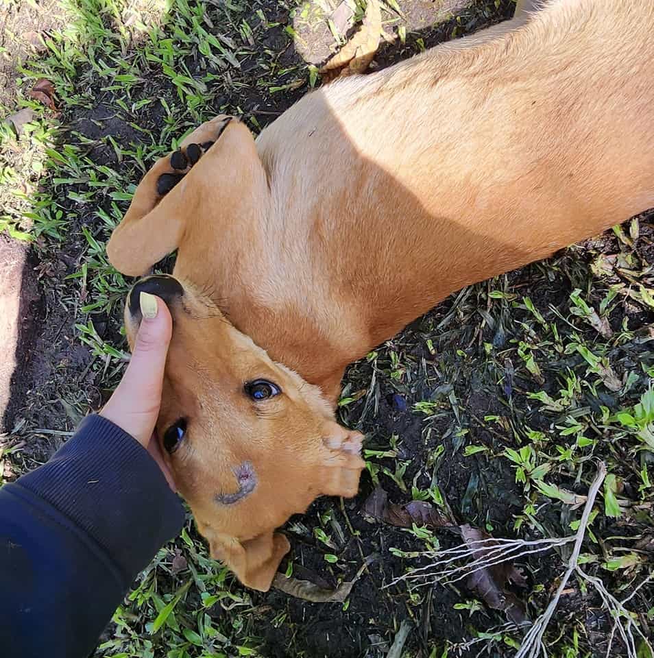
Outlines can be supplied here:
M463 526L460 526L460 528L461 537L470 548L474 548L476 545L474 542L476 541L480 541L481 539L492 539L492 537L484 531L479 528L473 528L468 524L464 524ZM474 550L474 559L485 557L485 555L488 555L489 551L497 545L498 544L494 542L485 542L481 548ZM476 594L476 596L483 599L489 608L505 612L509 620L517 626L522 626L522 624L529 622L529 618L527 618L524 613L524 606L518 597L512 592L507 592L505 589L507 583L512 583L513 585L518 585L520 587L526 585L524 575L520 569L516 568L509 562L502 562L472 572L472 574L466 578L465 586L468 587L471 592Z

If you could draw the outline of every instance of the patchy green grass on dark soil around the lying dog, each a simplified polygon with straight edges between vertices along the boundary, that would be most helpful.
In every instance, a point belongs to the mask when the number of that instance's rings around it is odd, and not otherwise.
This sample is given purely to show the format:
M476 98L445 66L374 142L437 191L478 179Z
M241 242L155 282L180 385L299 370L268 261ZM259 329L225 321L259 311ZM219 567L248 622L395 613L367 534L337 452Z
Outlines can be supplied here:
M409 39L401 22L407 3L395 4L385 12L385 27L396 29L407 51L420 51L422 36ZM494 4L478 3L477 18L492 16ZM126 358L120 324L130 282L110 267L104 246L136 183L156 158L218 112L243 114L256 132L317 84L315 67L288 57L295 29L313 14L307 3L232 0L80 0L60 9L65 27L49 34L45 53L17 72L19 106L34 109L35 120L17 140L0 127L0 229L32 243L48 308L69 319L56 339L88 349L93 387L106 393ZM324 10L317 14L324 20ZM454 21L448 34L463 32L467 20ZM40 77L53 82L60 117L29 99ZM583 561L618 598L627 596L653 560L646 541L654 503L649 223L635 219L602 241L452 295L354 364L339 413L367 432L365 486L378 483L393 500L451 510L496 536L559 537L575 530L577 505L602 459L609 476ZM73 262L65 274L56 268L62 254ZM68 372L57 365L43 396L62 401L59 416L53 405L53 431L65 433L89 402L77 380L64 379L59 369ZM24 444L43 437L40 427L27 413L16 430L15 445L23 447L0 454L12 476L35 465ZM371 525L359 516L356 508L330 502L287 528L299 547L288 574L313 556L323 576L347 580L370 560L344 604L306 609L240 587L208 557L189 517L182 536L139 576L97 655L269 655L275 640L267 635L287 643L288 655L313 657L306 618L337 614L343 626L358 624L392 644L402 620L420 624L432 604L424 591L382 589L384 569L398 576L424 550L451 539L420 526ZM518 596L533 617L546 606L565 557L526 563L530 585ZM365 608L366 599L357 598L365 587L387 608ZM565 658L590 655L601 644L587 618L601 611L601 601L585 594L583 583L571 589L572 602L548 635L550 653ZM654 609L645 594L652 588L633 599L633 610L651 624ZM433 596L433 616L445 620L439 633L422 644L410 635L403 655L444 657L448 650L483 647L496 655L514 652L520 633L492 630L502 615L465 588L435 589ZM448 637L447 624L457 637Z

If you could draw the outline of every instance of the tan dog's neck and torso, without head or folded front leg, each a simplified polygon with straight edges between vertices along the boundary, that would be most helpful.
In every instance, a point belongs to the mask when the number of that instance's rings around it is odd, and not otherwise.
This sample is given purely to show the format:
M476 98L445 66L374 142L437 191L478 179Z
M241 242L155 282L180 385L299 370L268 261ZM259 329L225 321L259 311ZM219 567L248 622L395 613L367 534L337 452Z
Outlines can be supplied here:
M654 205L653 47L644 34L646 53L607 53L602 77L596 49L618 28L609 3L595 11L563 34L545 15L437 48L285 112L256 142L269 197L216 228L223 312L334 398L348 363L446 295Z

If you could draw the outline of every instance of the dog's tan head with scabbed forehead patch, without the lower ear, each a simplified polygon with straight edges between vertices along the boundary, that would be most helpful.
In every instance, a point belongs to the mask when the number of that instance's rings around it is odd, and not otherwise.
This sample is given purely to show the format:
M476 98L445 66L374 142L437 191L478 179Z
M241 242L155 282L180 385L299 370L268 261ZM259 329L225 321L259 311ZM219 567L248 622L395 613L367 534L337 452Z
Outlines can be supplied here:
M165 300L173 333L157 434L198 528L246 540L305 511L320 494L354 496L361 435L335 422L321 391L279 363L172 276L142 279L125 306L130 345L142 291Z

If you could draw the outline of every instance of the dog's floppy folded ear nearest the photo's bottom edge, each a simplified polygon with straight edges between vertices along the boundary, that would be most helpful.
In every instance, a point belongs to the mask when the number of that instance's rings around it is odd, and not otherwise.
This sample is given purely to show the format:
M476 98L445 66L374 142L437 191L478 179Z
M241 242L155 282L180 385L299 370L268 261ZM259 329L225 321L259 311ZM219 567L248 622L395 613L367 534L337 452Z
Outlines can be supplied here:
M289 552L291 544L281 533L269 532L254 539L239 541L228 535L208 537L211 557L228 565L245 587L267 592L282 557Z

